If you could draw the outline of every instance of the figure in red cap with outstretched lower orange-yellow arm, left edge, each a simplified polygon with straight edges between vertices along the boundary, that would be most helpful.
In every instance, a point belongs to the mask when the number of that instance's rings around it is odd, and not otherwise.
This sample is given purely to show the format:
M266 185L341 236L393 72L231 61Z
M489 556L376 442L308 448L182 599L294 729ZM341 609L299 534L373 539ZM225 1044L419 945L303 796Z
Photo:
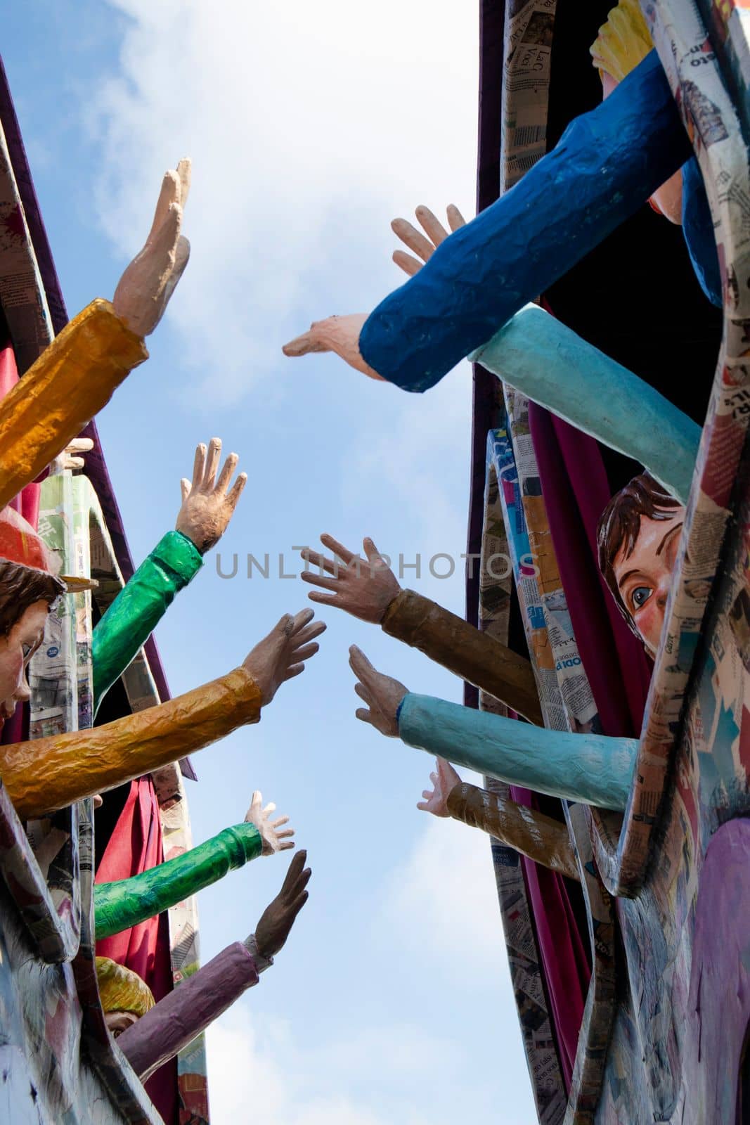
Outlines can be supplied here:
M9 525L6 510L0 521ZM42 644L47 613L64 586L49 570L46 548L15 516L13 550L0 580L0 713L29 698L26 668ZM10 555L10 557L9 557ZM29 560L30 564L29 564ZM0 773L21 818L43 816L174 762L249 722L280 685L299 675L325 629L313 611L286 614L227 675L178 699L91 730L15 742L0 749Z

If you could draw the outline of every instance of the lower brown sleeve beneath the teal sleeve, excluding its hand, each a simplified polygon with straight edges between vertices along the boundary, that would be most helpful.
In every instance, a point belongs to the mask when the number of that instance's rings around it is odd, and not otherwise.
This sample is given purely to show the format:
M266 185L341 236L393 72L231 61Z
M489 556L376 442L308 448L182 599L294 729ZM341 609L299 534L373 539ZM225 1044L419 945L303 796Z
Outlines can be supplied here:
M568 829L560 821L466 782L449 793L448 810L454 820L481 828L535 863L578 880Z

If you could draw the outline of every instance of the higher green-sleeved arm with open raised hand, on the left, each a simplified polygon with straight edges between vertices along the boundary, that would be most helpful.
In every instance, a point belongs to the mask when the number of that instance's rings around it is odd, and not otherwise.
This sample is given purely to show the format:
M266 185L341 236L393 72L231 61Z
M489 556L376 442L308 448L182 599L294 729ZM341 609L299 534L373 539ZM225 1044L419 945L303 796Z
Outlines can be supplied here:
M229 453L217 478L220 453L219 438L211 438L208 451L202 442L198 446L192 482L181 483L175 530L161 539L93 630L94 711L228 526L247 474L241 472L229 489L238 458Z

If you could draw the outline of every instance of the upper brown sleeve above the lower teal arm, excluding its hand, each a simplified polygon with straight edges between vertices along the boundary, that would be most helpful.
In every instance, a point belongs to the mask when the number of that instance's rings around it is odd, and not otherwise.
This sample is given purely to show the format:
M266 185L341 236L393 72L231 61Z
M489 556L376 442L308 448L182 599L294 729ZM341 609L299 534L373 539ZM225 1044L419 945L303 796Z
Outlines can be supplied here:
M524 719L544 726L531 663L455 613L413 590L403 590L386 610L382 628Z

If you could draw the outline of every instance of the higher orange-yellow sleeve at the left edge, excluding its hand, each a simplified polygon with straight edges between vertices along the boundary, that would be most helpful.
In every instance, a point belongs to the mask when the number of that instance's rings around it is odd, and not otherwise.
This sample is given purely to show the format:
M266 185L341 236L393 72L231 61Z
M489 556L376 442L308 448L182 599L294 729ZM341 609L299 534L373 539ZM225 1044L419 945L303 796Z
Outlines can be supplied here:
M0 508L35 480L148 359L108 300L66 324L0 402Z

